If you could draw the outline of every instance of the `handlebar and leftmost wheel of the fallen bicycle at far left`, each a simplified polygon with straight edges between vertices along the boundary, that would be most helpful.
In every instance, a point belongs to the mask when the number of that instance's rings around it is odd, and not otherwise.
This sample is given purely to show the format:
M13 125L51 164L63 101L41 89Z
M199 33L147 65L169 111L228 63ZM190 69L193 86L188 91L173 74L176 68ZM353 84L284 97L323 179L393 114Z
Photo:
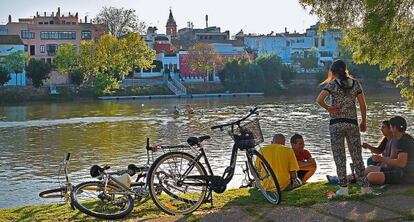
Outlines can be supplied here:
M71 208L74 210L75 207L73 206L73 203L70 198L70 193L73 191L74 185L71 183L69 179L69 175L68 175L69 159L70 159L70 153L66 153L59 167L58 181L61 184L61 186L59 188L42 191L39 193L39 197L41 198L64 198L65 203L69 203ZM60 182L60 174L62 171L62 167L63 167L63 172L65 175L64 183Z

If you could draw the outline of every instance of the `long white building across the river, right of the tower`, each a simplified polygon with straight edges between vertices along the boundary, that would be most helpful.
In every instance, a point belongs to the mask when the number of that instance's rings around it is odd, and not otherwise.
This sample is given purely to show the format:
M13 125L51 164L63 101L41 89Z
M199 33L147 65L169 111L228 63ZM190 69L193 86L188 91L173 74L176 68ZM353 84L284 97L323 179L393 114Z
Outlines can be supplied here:
M244 44L257 51L258 55L276 54L284 63L291 63L292 54L315 48L319 62L331 62L339 56L338 46L342 32L329 29L318 33L319 24L306 29L305 33L284 33L269 35L244 35ZM240 37L240 36L239 36Z

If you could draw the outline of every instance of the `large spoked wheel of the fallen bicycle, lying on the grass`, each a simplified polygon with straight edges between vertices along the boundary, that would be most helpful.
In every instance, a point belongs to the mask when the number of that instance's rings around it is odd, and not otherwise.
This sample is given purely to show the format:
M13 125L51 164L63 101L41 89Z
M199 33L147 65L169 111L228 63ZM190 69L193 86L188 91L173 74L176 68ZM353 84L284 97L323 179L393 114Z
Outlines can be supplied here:
M71 193L73 205L89 216L115 220L128 215L134 208L131 195L120 188L100 181L84 182Z

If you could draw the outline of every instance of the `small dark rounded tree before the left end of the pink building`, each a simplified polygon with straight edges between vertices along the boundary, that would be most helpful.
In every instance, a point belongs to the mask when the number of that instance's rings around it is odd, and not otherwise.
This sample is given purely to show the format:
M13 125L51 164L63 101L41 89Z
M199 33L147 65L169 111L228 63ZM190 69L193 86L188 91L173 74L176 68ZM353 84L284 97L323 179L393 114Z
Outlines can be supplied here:
M39 88L43 86L43 81L49 79L50 65L43 60L30 59L27 66L27 77L32 79L33 86Z

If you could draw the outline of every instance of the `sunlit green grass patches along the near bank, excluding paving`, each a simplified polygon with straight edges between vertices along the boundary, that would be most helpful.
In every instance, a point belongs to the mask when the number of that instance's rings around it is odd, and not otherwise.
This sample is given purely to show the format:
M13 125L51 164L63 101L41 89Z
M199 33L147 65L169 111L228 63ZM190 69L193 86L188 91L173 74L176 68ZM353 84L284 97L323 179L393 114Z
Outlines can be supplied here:
M336 186L326 184L325 182L309 183L296 190L283 192L280 206L299 206L309 207L315 203L324 203L329 201L352 199L365 200L373 196L358 196L355 193L358 187L351 187L351 195L346 198L334 198L329 200L326 196L327 191L335 191ZM414 196L414 189L404 193ZM214 207L210 204L204 204L193 213L187 215L190 221L196 221L203 214L229 206L245 206L249 209L249 214L254 215L256 211L262 208L274 207L267 203L262 195L255 189L232 189L223 194L214 194ZM138 221L151 218L167 217L162 213L152 201L136 206L133 212L122 221ZM46 204L37 206L24 206L9 209L0 209L0 221L97 221L95 218L84 215L78 210L71 210L68 205L64 204Z

